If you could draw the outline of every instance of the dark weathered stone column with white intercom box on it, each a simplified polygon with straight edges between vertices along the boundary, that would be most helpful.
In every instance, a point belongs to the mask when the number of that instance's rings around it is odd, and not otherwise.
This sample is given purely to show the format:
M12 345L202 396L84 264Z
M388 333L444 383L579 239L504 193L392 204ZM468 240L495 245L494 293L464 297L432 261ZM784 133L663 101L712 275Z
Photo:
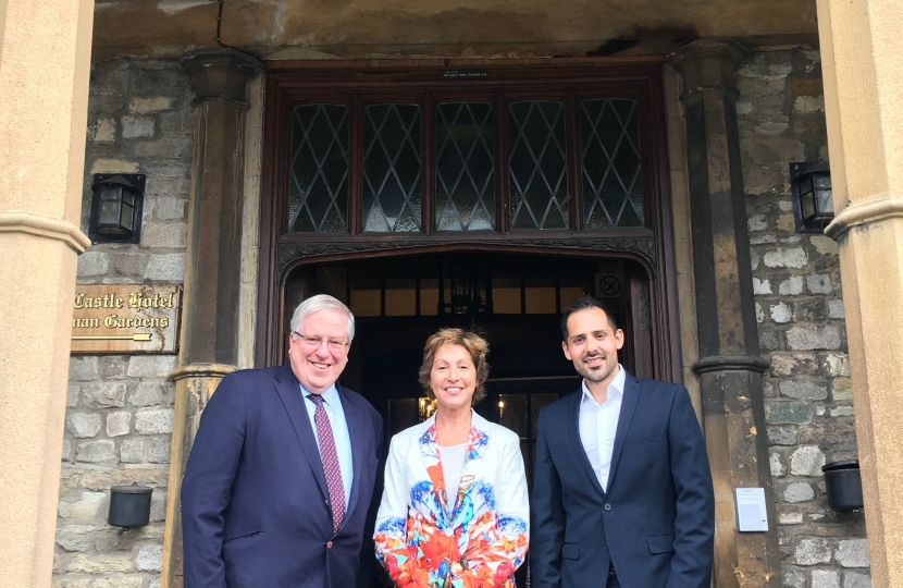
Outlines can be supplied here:
M746 51L694 41L671 56L683 78L690 217L706 446L715 481L715 585L780 586L734 72ZM767 532L739 532L733 489L765 488Z

